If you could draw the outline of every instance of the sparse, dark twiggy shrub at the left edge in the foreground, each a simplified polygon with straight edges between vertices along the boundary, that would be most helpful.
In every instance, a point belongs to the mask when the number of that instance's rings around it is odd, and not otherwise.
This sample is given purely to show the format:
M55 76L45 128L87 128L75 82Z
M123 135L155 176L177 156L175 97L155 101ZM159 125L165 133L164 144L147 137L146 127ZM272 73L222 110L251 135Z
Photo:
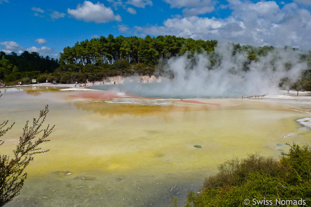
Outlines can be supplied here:
M0 94L0 97L2 95ZM28 164L34 159L34 155L47 152L41 150L40 145L43 142L49 142L47 137L52 132L54 126L49 125L42 129L46 115L49 112L48 106L40 110L38 119L33 119L32 124L26 122L23 128L23 134L19 138L16 148L13 150L12 158L0 153L0 206L11 201L15 196L20 194L24 181L27 178L25 172ZM0 137L10 130L14 123L7 127L8 120L0 123ZM0 147L4 141L0 140Z

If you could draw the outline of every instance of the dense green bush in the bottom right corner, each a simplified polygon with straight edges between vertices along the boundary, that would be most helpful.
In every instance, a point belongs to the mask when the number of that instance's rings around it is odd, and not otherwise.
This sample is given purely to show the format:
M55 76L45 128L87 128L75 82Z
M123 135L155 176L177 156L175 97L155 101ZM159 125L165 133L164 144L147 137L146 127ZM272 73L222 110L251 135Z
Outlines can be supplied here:
M311 148L287 145L279 160L251 154L220 164L186 206L310 206Z

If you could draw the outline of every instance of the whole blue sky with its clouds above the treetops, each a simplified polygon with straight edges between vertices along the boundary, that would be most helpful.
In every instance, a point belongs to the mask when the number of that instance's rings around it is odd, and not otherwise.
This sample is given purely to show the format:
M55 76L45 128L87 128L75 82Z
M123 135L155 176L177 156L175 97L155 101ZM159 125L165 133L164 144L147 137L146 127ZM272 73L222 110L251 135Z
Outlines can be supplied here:
M77 41L175 35L311 50L311 0L0 0L0 50L59 58Z

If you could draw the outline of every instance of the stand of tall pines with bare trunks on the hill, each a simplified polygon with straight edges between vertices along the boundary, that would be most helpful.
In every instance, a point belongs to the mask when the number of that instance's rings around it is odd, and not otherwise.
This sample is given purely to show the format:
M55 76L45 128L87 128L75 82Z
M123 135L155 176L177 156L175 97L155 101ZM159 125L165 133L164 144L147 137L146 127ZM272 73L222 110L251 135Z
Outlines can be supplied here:
M216 40L194 40L192 38L175 37L171 35L150 37L144 39L136 36L114 38L93 38L77 42L72 47L65 47L60 53L60 64L103 65L114 64L118 60L132 63L155 65L161 59L169 59L176 55L183 55L187 51L213 51Z

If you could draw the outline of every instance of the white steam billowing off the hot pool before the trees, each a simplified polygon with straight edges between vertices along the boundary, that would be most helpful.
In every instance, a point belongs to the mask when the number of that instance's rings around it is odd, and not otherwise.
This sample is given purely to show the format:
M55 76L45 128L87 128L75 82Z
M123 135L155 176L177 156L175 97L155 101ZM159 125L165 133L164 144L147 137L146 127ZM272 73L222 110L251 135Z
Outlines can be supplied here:
M216 64L211 66L210 54L196 54L195 61L184 56L167 61L166 71L174 79L162 79L160 83L141 84L127 78L118 89L144 97L196 98L196 97L241 97L242 95L263 95L278 89L283 78L295 82L307 69L300 61L301 52L276 48L267 56L248 65L248 54L233 55L233 45L218 43L215 48ZM193 63L194 62L194 63ZM290 63L290 67L285 65ZM208 70L208 68L211 68Z

